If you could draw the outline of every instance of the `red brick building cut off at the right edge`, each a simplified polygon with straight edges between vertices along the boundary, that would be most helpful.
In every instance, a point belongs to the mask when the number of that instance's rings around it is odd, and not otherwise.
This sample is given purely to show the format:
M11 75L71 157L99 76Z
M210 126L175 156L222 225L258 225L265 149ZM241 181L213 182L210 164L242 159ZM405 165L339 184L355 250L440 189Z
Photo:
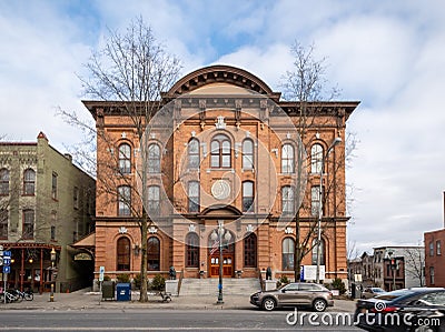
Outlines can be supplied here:
M445 288L445 229L424 233L427 286Z

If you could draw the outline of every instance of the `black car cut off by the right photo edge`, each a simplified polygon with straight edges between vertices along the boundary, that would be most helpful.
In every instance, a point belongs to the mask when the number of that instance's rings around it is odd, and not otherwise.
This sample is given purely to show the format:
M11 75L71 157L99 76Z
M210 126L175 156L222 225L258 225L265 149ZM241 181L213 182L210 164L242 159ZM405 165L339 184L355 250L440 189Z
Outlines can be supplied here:
M358 300L354 321L366 331L445 332L445 289L404 289Z

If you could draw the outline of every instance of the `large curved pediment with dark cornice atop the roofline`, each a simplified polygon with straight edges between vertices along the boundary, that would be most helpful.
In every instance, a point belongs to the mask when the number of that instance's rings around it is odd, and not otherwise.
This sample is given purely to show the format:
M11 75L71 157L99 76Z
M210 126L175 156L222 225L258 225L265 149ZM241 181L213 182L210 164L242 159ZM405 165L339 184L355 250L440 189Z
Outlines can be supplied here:
M209 90L202 89L207 85ZM233 89L229 88L230 85ZM180 79L165 97L176 98L181 94L194 92L199 94L202 92L202 94L215 93L217 90L216 88L224 88L226 91L235 92L234 94L239 94L244 91L245 93L243 94L259 93L275 100L279 100L280 97L280 93L274 92L269 85L250 72L240 68L220 64L205 67L190 72ZM214 92L208 92L212 89L215 89ZM199 90L199 92L196 90Z

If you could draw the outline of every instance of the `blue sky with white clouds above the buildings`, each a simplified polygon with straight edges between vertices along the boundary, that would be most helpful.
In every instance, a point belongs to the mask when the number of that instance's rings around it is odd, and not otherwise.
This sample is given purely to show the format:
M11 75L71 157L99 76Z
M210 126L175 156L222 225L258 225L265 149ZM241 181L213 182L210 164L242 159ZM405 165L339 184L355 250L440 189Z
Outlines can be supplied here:
M338 99L360 101L347 123L358 142L347 169L352 255L423 244L444 228L444 1L0 0L0 138L43 131L60 152L79 142L56 110L90 117L78 76L108 29L138 17L182 74L230 64L274 91L290 46L314 44Z

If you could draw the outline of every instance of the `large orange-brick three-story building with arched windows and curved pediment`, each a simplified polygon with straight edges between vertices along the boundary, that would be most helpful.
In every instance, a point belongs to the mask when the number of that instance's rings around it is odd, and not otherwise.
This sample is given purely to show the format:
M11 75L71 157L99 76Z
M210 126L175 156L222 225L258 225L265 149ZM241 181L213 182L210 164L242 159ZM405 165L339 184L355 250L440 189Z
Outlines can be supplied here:
M96 279L100 266L111 279L140 273L141 197L149 278L170 266L216 278L220 248L225 278L267 268L293 278L296 249L308 251L303 265L316 264L320 217L325 280L347 279L344 142L358 102L284 101L250 72L211 66L152 103L142 140L123 103L83 104L98 130Z

